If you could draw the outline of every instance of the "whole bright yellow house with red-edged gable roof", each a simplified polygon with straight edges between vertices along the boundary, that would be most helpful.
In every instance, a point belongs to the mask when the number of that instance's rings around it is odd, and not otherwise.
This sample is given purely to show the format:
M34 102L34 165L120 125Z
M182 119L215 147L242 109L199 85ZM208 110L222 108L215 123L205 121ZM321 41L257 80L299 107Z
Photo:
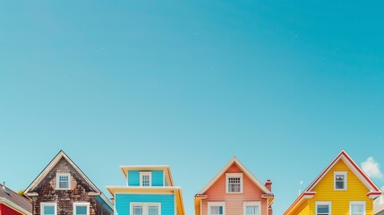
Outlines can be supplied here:
M375 185L342 150L284 215L373 215Z

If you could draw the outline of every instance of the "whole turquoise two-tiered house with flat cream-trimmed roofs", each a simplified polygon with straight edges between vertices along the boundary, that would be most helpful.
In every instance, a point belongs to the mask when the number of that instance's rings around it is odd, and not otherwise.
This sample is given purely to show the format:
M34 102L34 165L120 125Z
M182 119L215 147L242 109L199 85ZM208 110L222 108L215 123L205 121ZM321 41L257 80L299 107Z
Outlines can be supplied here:
M117 215L184 215L169 166L122 166L126 185L107 186Z

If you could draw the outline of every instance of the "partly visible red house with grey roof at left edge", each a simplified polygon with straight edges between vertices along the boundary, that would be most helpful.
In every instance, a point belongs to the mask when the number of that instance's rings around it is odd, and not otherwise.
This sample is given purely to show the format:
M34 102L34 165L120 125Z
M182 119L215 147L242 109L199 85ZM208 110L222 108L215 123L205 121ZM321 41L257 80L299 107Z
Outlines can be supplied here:
M29 199L0 184L0 215L31 215Z

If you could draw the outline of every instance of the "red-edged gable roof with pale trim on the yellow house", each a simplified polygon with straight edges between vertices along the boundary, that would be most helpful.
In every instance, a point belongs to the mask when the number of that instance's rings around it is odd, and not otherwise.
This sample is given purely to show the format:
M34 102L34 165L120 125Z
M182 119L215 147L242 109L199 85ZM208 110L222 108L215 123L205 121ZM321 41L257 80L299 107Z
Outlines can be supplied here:
M286 210L284 214L288 214L288 212L292 211L298 204L303 202L303 200L313 197L315 195L315 192L313 192L313 188L319 184L321 179L329 173L329 170L333 168L340 159L343 160L346 166L350 168L351 171L354 173L354 175L360 179L363 185L365 185L370 190L370 192L367 193L368 197L375 198L380 195L381 192L379 187L375 185L372 182L371 178L367 176L367 174L363 171L363 169L360 168L354 162L354 160L346 153L346 150L341 150L340 153L338 153L337 157L329 163L329 166L327 166L327 168L324 168L320 175L315 178L311 185L309 185L304 190L304 192L299 195L299 197L297 197L294 203L288 208L288 210Z

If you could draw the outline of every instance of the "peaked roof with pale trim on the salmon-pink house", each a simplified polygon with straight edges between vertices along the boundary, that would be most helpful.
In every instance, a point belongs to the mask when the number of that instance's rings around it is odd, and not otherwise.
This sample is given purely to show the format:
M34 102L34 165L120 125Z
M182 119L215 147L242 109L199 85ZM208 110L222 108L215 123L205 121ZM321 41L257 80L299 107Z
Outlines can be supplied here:
M252 182L259 186L259 188L261 189L261 191L265 194L272 194L269 189L263 185L259 179L256 178L256 176L253 176L253 174L251 173L251 171L248 170L248 168L245 168L245 166L243 165L242 162L240 162L239 159L237 159L236 157L230 159L227 163L226 163L226 166L224 166L224 168L221 168L220 171L218 171L218 174L216 174L216 176L214 176L207 185L205 185L201 191L199 193L197 193L196 195L199 195L199 194L203 194L205 192L207 192L207 190L209 189L210 186L212 186L213 184L215 184L216 181L218 181L218 178L220 176L223 176L223 174L226 172L226 170L230 167L232 167L233 164L236 164L237 167L239 167L243 173L245 173L246 176L248 176Z

